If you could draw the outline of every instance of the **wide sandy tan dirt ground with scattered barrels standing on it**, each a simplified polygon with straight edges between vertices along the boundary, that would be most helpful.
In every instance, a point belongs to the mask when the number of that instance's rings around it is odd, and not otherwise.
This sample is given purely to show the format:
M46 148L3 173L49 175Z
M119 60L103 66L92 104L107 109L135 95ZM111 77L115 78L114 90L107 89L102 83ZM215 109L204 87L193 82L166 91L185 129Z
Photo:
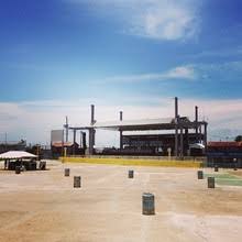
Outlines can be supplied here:
M0 176L0 241L240 241L242 188L207 188L194 168L52 164ZM64 168L70 176L64 176ZM134 169L134 178L128 170ZM205 170L209 173L210 169ZM73 188L73 176L81 188ZM155 216L142 216L142 193Z

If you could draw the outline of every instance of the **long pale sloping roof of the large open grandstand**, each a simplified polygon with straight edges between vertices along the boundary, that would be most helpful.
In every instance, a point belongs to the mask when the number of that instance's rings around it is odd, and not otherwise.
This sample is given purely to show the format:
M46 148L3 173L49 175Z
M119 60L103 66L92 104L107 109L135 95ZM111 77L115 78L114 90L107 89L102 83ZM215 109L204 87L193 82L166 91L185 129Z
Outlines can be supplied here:
M184 128L195 128L195 122L189 121L187 117L180 117L179 123ZM205 122L198 122L201 124ZM75 130L86 129L107 129L116 131L145 131L145 130L174 130L175 119L163 118L163 119L142 119L142 120L122 120L122 121L110 121L110 122L96 122L89 127L69 128Z

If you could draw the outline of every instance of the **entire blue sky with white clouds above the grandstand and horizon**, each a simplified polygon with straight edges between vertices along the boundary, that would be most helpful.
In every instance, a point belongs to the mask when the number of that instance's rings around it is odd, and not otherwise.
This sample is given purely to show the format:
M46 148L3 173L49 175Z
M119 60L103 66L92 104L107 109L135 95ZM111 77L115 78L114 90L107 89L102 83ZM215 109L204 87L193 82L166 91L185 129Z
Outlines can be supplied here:
M242 133L241 0L0 0L0 141L50 143L65 116L209 122ZM100 134L117 143L117 135Z

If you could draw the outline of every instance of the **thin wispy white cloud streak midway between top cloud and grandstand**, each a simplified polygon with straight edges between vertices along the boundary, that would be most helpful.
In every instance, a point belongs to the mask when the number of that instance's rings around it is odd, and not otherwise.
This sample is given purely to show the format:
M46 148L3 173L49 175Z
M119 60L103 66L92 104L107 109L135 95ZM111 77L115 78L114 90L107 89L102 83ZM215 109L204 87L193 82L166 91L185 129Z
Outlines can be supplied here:
M163 73L150 73L141 75L129 75L129 76L114 76L108 77L101 80L101 82L133 82L133 81L162 81L162 80L172 80L172 79L186 79L193 80L196 79L197 75L193 66L178 66Z

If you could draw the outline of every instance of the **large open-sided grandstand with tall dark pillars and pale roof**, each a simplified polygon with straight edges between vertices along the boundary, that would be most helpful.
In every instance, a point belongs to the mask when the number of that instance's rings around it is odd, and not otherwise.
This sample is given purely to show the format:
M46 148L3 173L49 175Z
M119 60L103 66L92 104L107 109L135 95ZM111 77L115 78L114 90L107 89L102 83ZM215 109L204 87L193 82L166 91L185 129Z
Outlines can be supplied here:
M112 130L120 133L120 147L103 150L103 154L116 155L165 155L170 148L172 155L184 157L189 155L190 144L200 143L207 146L207 127L206 121L198 120L198 107L195 107L195 120L188 117L182 117L178 113L178 98L175 98L175 113L170 118L145 119L145 120L123 120L122 111L120 119L110 122L99 122L95 120L95 106L91 105L90 125L70 127L65 124L66 133L68 130L74 132L74 142L76 142L76 132L88 131L88 154L95 154L95 133L97 129ZM163 131L164 134L154 135L128 135L125 132L136 131ZM167 133L165 133L167 132ZM170 134L172 133L172 134Z

